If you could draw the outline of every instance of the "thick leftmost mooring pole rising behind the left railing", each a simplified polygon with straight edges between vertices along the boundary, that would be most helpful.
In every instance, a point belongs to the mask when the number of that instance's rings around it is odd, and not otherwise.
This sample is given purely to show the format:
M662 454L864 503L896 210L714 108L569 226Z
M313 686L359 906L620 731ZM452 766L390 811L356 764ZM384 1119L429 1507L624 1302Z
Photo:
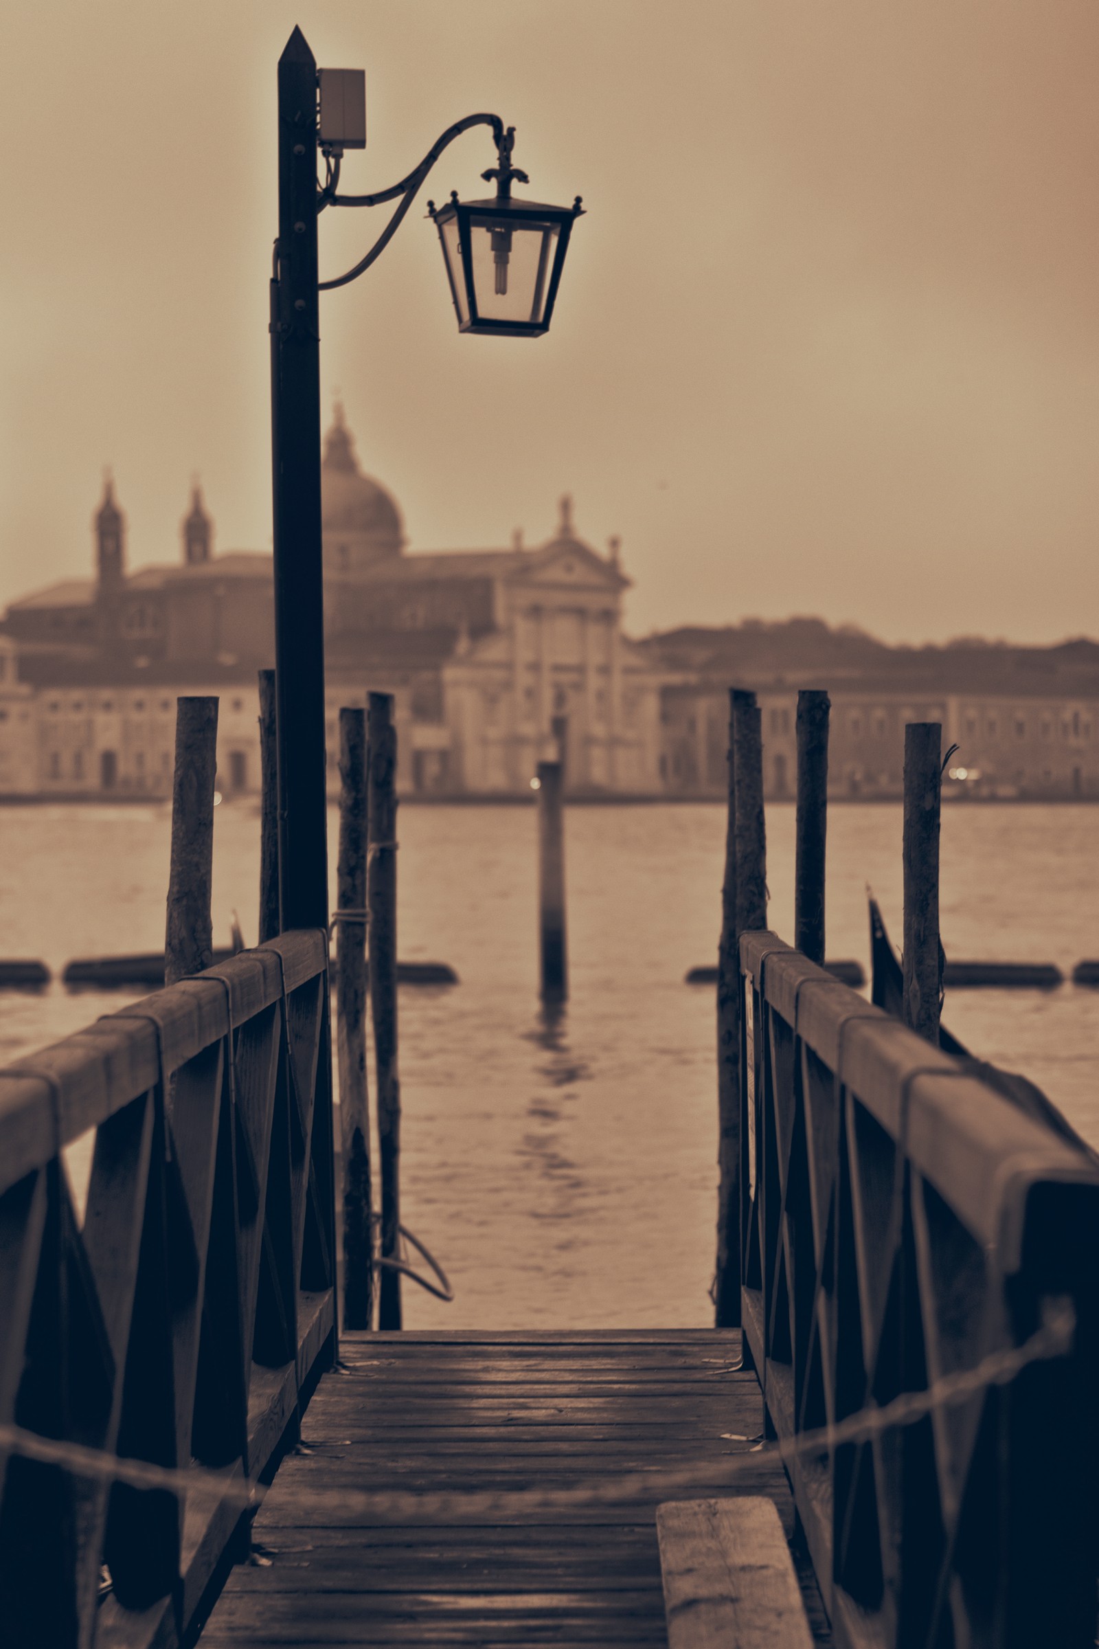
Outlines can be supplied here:
M176 699L165 984L201 973L214 961L209 897L214 877L216 770L217 699Z

